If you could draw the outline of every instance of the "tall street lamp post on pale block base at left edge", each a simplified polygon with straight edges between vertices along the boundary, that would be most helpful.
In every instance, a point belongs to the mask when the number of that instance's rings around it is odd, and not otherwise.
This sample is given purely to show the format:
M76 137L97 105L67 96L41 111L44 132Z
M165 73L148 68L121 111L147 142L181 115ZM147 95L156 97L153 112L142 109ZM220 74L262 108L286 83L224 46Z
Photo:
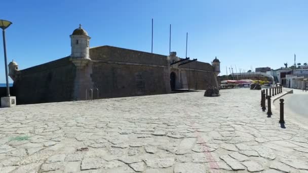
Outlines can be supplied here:
M3 48L4 48L4 61L5 61L5 70L6 70L6 84L7 84L7 97L1 98L2 107L11 107L16 105L15 97L11 97L10 88L9 88L9 77L8 77L8 63L7 63L7 48L6 48L6 36L5 30L12 24L12 22L7 20L0 20L0 28L2 29L3 35Z

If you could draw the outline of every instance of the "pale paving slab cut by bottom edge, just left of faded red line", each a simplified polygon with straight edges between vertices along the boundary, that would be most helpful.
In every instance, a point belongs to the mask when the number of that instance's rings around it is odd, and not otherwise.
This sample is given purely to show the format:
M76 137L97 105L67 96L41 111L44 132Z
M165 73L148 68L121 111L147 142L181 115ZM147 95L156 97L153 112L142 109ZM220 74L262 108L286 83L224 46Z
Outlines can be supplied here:
M176 163L174 166L174 173L204 173L206 167L200 163Z

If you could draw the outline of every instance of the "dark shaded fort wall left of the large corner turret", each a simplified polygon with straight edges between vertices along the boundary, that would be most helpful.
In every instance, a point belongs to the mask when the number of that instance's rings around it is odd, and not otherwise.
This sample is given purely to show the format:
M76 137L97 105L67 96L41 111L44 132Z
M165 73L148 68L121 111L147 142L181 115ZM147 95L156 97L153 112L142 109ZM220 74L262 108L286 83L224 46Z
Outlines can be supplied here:
M17 104L71 101L75 67L69 57L20 70L14 80Z

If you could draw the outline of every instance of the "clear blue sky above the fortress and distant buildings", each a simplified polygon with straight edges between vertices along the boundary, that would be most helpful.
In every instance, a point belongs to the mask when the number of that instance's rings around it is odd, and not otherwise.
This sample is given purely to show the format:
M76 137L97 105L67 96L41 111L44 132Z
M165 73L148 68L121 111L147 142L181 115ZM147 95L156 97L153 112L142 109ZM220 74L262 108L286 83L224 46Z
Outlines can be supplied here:
M90 47L171 51L225 67L246 71L255 67L279 68L283 63L308 63L308 1L3 1L1 19L13 24L6 30L8 61L19 69L70 55L69 35L81 23ZM5 8L3 8L5 7ZM1 36L2 38L2 36ZM12 82L12 80L10 80ZM5 82L3 42L0 41L0 83Z

